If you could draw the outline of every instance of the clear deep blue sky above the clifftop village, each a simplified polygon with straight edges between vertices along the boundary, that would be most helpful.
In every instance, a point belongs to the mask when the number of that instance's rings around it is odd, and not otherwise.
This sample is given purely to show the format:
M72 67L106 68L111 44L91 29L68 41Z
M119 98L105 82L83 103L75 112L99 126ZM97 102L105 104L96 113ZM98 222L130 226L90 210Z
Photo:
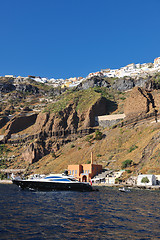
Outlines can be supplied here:
M0 1L0 75L69 78L160 56L160 0Z

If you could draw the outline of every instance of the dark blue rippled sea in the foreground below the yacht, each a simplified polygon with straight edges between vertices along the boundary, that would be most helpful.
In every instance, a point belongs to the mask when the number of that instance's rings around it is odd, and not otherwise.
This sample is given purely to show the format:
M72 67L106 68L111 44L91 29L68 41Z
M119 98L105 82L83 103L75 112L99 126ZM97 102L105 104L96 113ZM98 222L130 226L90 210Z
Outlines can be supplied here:
M160 239L160 191L30 192L0 184L0 239Z

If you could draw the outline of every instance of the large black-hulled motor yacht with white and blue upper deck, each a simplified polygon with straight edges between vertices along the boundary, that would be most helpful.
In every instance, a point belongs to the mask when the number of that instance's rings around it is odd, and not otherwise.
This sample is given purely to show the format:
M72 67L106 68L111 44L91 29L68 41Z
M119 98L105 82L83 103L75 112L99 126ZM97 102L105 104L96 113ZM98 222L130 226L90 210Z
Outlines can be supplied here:
M12 182L21 189L34 191L93 191L89 183L77 181L68 171L47 176L36 174L28 179L12 177Z

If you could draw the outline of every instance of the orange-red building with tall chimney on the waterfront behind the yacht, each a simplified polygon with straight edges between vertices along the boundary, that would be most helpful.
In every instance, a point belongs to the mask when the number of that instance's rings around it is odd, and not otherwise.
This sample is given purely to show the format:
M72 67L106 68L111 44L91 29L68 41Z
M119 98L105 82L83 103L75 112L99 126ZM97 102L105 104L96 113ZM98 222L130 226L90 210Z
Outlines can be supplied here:
M68 173L73 175L79 182L89 182L95 175L102 172L102 165L93 164L91 153L90 164L68 165Z

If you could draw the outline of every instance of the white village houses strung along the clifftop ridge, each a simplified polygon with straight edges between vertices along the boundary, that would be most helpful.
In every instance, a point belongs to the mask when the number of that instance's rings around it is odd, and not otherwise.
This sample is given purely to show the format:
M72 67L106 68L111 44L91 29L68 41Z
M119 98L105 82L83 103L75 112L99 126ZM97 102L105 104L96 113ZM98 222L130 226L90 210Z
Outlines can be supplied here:
M153 63L143 63L143 64L135 64L131 63L125 67L120 69L102 69L101 71L89 73L86 78L82 77L71 77L68 79L55 79L51 78L48 79L46 77L36 77L36 76L28 76L29 78L33 78L37 82L41 83L48 83L51 84L53 87L76 87L82 81L89 79L94 76L98 77L109 77L109 78L123 78L123 77L147 77L150 75L154 75L155 73L160 72L160 57L154 59ZM23 79L27 79L28 77L21 77L21 76L13 76L13 75L5 75L5 77L14 77L19 81L23 81Z

